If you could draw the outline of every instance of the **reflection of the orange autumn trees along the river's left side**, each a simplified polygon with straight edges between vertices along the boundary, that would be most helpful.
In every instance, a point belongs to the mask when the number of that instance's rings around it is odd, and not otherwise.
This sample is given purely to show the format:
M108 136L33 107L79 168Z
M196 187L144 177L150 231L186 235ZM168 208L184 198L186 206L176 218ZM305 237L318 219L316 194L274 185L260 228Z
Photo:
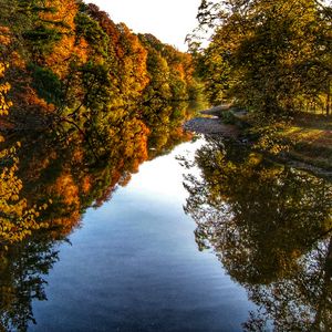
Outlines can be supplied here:
M190 139L179 129L186 105L160 108L160 122L153 114L126 110L103 128L63 125L7 137L2 151L12 142L21 142L21 148L10 158L0 156L8 169L0 187L10 189L8 197L0 189L0 331L25 331L34 322L32 301L46 299L43 276L86 209L110 200L144 160ZM35 227L25 231L28 221ZM8 225L14 240L4 242Z

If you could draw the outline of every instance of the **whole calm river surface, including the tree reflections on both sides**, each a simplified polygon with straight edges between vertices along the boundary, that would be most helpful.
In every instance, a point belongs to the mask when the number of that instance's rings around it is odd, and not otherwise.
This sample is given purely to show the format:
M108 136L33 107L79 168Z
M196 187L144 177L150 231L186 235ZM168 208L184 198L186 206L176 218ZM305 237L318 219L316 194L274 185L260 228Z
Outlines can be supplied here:
M136 133L97 162L80 139L27 141L21 194L49 228L0 256L0 328L332 331L331 181L232 142Z

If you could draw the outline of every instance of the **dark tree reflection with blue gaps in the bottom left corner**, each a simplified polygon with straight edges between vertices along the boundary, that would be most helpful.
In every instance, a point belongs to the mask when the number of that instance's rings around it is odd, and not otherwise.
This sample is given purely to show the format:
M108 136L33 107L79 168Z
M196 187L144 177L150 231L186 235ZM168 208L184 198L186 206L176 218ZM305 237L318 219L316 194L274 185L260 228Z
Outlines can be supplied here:
M56 243L63 240L39 234L1 252L1 331L27 331L30 321L35 323L32 301L46 300L44 276L58 261Z

